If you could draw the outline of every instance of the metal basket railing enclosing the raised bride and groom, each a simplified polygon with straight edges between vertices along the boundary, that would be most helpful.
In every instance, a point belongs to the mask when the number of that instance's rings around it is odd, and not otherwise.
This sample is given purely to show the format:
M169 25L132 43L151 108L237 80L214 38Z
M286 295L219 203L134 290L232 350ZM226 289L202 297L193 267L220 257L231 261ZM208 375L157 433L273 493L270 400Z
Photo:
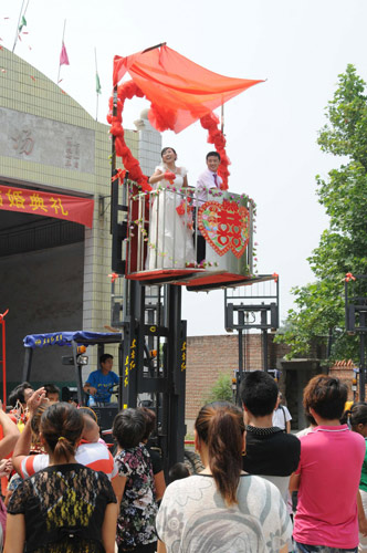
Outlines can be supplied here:
M205 240L199 231L199 208L212 202L218 205L237 204L248 210L248 247L238 257L229 250L223 253L218 244ZM208 202L196 198L192 188L161 188L151 192L128 194L128 236L125 244L127 274L164 269L182 270L187 268L207 271L228 271L238 274L253 272L253 216L254 205L245 196L229 191L209 190ZM217 206L217 208L216 208ZM210 206L209 206L210 209ZM214 211L213 211L214 213ZM216 215L216 213L214 213ZM217 222L220 220L218 217ZM237 216L239 218L239 216ZM228 217L227 217L228 219ZM208 222L209 221L209 222ZM210 218L206 221L210 225ZM216 238L216 225L210 236ZM226 227L226 225L222 225ZM219 227L219 225L218 225ZM232 231L232 227L230 228ZM219 230L217 229L219 232ZM238 231L238 229L237 229ZM199 241L205 243L205 258L198 259ZM220 244L219 244L220 246ZM202 248L202 247L201 247Z

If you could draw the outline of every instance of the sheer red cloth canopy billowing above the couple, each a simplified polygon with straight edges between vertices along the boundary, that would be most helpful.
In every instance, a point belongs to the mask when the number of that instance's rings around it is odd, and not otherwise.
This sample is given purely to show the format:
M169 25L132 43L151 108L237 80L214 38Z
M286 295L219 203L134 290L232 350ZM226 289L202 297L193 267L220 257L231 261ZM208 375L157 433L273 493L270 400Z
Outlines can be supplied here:
M114 58L114 86L125 73L151 103L157 131L179 133L228 100L263 81L219 75L162 45L127 58Z

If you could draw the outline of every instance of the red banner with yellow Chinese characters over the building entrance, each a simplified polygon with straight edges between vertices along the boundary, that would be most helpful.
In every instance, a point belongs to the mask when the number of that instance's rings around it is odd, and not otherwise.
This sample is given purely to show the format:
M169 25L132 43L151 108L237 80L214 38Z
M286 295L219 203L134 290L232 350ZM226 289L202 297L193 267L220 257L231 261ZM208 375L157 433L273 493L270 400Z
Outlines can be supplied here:
M94 200L0 185L0 210L43 215L92 228Z

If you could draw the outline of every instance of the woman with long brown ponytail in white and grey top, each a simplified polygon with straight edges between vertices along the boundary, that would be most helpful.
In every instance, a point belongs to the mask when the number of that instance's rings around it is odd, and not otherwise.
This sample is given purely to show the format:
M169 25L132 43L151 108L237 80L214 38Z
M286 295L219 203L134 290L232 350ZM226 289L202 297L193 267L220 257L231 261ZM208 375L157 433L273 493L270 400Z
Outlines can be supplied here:
M195 444L205 470L168 486L157 515L158 551L285 553L292 525L280 491L242 471L242 411L227 401L202 407Z

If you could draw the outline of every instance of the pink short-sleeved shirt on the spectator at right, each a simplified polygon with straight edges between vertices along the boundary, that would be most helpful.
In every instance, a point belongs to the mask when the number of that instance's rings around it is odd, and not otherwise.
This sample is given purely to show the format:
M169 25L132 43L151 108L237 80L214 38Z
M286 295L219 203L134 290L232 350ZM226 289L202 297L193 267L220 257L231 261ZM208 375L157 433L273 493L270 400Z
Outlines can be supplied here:
M317 426L301 438L293 538L307 545L358 545L357 492L366 444L347 425Z

